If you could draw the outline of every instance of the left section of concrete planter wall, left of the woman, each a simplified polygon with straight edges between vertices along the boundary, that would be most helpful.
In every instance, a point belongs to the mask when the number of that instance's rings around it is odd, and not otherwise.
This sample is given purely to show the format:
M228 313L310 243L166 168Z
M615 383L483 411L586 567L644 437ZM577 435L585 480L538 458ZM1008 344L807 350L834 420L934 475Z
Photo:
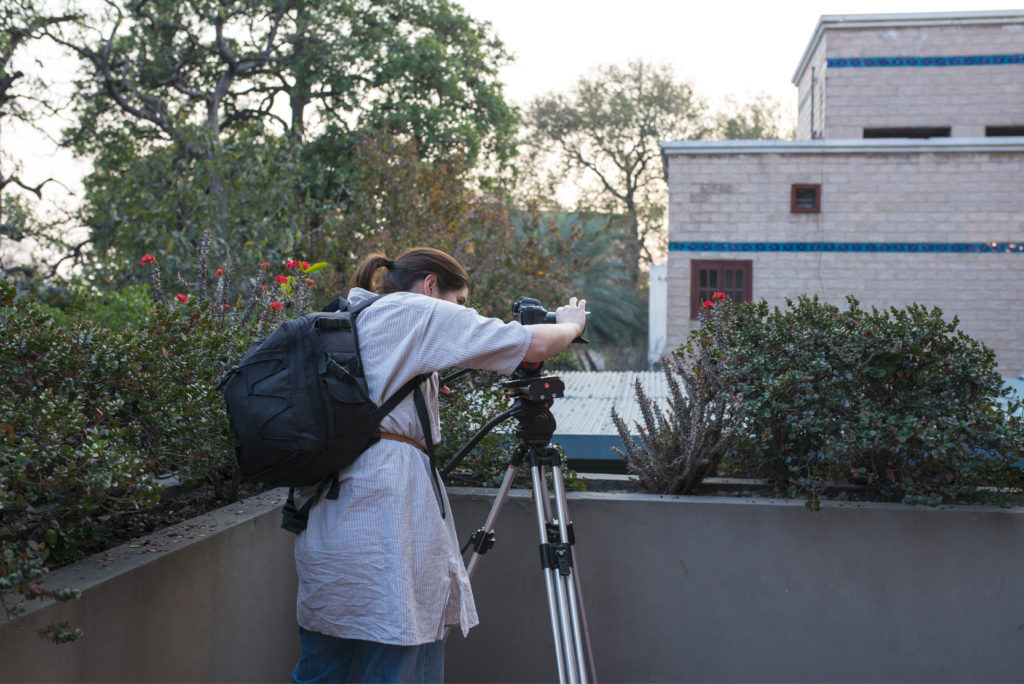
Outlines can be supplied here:
M0 681L289 681L300 647L283 502L275 490L52 572L46 586L82 596L0 622ZM85 636L36 633L61 619Z

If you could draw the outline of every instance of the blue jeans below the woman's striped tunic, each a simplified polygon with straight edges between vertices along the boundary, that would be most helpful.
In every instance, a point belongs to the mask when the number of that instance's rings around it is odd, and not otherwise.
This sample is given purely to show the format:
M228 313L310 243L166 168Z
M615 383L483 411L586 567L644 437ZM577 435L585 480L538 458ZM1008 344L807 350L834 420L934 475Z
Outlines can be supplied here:
M444 641L394 646L375 641L341 639L299 628L302 657L292 681L305 682L441 682Z

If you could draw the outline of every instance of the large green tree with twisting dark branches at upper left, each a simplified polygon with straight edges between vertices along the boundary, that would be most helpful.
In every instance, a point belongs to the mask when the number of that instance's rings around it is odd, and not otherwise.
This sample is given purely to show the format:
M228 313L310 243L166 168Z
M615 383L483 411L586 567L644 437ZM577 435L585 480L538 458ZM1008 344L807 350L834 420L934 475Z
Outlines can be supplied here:
M362 130L409 135L424 159L512 155L507 55L446 0L109 7L99 30L58 36L89 70L70 138L94 158L85 220L108 265L159 241L174 268L208 228L255 257L302 251L337 228Z

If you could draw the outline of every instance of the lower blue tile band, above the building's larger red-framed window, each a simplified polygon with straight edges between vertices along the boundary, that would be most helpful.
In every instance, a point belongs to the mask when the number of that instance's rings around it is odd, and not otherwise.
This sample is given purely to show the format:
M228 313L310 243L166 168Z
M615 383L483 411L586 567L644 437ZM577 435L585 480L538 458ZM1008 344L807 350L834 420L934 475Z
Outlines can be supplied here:
M670 252L1024 254L1024 243L669 243Z

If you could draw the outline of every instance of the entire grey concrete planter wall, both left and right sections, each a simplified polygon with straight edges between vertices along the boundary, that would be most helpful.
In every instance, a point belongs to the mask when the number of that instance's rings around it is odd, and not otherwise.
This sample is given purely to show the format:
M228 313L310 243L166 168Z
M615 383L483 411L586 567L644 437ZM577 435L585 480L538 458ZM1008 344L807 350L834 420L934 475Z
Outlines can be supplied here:
M493 496L453 490L461 539ZM555 679L528 496L498 520L473 583L481 626L450 638L450 682ZM279 505L250 500L54 572L85 592L0 626L0 681L287 681ZM602 681L1020 680L1022 509L572 494L569 512ZM34 633L61 618L85 638Z

